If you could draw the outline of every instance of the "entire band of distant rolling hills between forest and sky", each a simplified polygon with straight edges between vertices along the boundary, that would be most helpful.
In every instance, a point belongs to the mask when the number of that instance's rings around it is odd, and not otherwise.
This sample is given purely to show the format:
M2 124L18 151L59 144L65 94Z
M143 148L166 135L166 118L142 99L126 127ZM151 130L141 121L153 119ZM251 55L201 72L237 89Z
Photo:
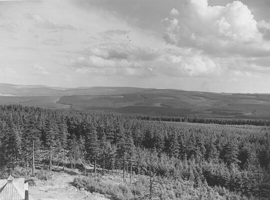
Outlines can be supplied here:
M270 94L213 93L140 87L61 88L0 83L0 104L156 116L270 119Z

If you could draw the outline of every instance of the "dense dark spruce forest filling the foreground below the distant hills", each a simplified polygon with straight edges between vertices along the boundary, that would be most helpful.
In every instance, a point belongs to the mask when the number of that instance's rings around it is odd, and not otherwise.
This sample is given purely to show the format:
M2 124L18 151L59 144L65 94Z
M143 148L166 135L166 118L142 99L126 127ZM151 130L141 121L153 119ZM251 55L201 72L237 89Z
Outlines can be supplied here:
M48 170L52 164L74 168L85 162L108 170L128 166L136 174L188 180L194 188L206 184L220 195L226 189L269 198L268 126L178 121L0 105L1 172L22 166L30 173L33 160Z

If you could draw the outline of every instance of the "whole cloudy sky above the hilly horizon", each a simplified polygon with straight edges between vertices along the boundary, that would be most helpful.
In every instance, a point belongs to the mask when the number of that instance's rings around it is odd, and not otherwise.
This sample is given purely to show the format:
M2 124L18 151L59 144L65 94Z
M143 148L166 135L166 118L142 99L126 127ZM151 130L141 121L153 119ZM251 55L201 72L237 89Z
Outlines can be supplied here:
M0 82L270 93L269 0L0 1Z

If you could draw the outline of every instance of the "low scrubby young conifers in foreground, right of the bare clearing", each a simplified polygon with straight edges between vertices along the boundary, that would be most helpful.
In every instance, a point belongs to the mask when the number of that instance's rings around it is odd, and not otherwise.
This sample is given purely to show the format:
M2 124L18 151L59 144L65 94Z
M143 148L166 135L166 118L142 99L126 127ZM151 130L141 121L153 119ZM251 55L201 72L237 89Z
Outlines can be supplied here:
M247 197L231 192L224 187L210 187L206 182L194 187L194 182L182 179L156 177L150 192L149 179L140 177L133 184L111 182L103 178L77 177L73 185L90 192L108 194L113 200L137 199L219 199L247 200Z

